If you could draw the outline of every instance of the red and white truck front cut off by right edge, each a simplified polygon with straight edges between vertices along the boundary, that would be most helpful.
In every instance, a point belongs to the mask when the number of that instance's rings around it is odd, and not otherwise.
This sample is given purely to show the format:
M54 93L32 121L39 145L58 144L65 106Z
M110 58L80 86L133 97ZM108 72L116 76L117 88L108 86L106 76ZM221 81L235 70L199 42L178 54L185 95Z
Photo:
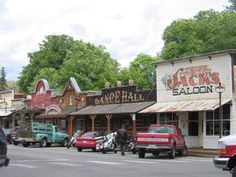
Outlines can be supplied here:
M236 177L236 135L219 139L218 156L213 159L216 168L232 173Z

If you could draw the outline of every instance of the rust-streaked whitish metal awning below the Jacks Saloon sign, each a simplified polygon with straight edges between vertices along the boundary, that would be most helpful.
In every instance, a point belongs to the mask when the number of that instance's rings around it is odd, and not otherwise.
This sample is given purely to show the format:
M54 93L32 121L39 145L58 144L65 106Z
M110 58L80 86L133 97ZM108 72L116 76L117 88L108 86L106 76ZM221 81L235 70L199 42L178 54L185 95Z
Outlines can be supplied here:
M222 99L221 105L224 105L230 101L231 99ZM218 107L219 99L188 100L156 103L140 111L139 113L207 111L215 110Z

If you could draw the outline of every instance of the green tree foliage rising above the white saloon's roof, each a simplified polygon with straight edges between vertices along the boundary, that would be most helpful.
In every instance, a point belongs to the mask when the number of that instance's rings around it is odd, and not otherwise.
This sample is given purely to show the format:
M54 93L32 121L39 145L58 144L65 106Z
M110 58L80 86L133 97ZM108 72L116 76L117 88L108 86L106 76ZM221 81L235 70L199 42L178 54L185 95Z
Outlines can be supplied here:
M200 11L193 19L172 22L163 40L165 60L235 48L236 13Z

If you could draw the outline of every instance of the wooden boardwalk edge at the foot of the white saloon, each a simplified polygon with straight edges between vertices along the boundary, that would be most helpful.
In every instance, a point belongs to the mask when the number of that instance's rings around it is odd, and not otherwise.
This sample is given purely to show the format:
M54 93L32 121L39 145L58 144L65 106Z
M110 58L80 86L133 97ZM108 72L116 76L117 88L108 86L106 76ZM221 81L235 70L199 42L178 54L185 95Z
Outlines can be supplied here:
M216 149L188 148L188 155L195 157L215 157L217 156Z

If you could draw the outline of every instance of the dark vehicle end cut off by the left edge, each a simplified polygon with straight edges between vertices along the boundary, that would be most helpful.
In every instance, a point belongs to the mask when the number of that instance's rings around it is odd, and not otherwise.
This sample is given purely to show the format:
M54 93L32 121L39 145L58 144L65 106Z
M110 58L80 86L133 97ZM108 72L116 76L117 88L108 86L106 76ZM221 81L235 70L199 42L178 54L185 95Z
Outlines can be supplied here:
M10 159L7 158L7 142L3 129L0 127L0 167L8 166Z

